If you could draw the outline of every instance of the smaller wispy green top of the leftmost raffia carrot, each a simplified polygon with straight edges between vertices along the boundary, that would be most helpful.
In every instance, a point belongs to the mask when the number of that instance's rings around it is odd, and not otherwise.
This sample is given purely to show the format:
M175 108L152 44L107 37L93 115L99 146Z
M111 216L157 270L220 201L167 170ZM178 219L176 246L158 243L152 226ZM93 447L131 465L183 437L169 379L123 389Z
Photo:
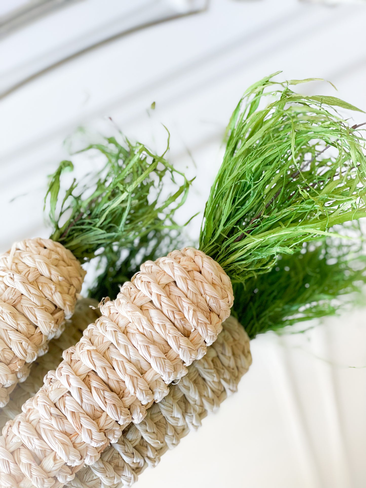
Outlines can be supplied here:
M105 166L85 181L74 179L61 192L63 171L73 169L70 161L61 162L45 197L45 204L49 197L51 239L70 249L81 262L97 253L111 264L118 262L122 248L135 252L133 249L138 251L149 241L159 246L177 228L172 217L184 203L191 182L164 155L151 153L141 143L125 140L122 145L112 137L83 151L103 154ZM182 184L176 183L178 176ZM163 179L175 185L175 192L164 199L160 198ZM66 215L66 222L62 222Z

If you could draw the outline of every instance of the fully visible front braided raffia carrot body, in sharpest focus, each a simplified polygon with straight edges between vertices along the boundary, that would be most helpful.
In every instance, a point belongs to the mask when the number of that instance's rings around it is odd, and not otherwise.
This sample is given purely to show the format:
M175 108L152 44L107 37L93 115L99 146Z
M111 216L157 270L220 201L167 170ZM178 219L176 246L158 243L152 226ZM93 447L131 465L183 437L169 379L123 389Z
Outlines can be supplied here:
M202 358L232 302L228 276L201 251L185 248L143 264L4 427L0 486L59 488L95 464Z

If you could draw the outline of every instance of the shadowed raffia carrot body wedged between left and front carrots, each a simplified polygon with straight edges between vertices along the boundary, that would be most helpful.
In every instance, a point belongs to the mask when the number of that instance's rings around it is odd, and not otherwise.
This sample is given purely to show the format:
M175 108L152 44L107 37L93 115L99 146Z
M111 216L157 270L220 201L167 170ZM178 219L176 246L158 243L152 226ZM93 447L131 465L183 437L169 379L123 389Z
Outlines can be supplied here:
M8 420L13 420L21 413L21 407L30 397L34 396L43 385L43 378L56 369L62 361L62 353L65 349L80 341L82 332L101 315L98 302L91 298L81 298L76 302L75 311L70 320L65 321L65 330L57 339L52 339L48 345L48 352L39 356L31 364L28 378L18 383L10 393L10 401L0 409L0 428L4 427Z

